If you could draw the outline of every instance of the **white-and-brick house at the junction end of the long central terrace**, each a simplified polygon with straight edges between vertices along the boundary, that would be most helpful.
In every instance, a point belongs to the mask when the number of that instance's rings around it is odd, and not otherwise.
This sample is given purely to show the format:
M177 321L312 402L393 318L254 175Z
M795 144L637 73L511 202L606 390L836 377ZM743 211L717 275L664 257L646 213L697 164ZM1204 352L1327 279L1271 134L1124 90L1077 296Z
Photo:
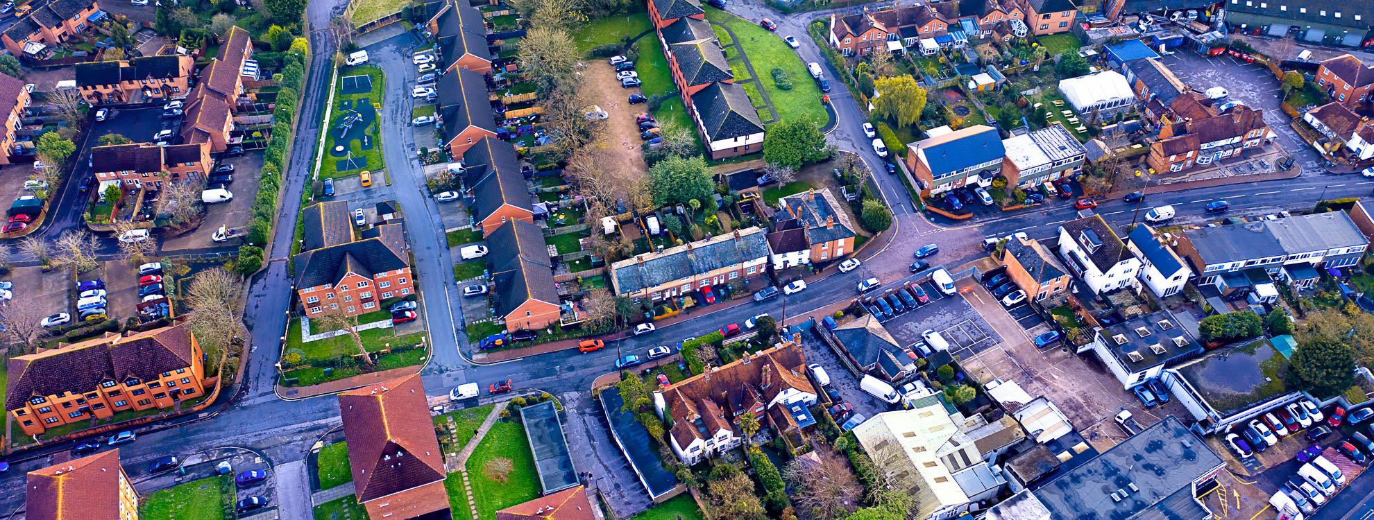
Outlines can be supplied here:
M778 229L804 229L807 263L838 259L855 251L855 226L829 188L807 189L778 200Z

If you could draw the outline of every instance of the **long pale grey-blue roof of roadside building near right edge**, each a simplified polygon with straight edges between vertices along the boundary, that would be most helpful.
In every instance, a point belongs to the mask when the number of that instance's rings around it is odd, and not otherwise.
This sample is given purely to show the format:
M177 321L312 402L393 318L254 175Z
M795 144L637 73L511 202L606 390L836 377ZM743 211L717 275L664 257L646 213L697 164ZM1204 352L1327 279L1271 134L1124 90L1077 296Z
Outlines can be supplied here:
M1183 232L1205 265L1367 244L1345 211L1227 224ZM1205 266L1204 265L1204 266Z

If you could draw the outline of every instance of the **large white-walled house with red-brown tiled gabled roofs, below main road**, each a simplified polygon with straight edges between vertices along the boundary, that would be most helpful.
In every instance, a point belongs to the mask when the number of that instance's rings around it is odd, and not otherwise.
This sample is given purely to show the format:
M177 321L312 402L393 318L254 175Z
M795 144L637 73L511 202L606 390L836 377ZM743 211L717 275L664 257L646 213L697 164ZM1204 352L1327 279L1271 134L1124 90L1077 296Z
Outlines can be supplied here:
M780 347L745 354L723 366L654 392L654 409L665 421L672 420L668 439L673 454L692 465L730 451L743 439L739 418L752 414L760 425L774 425L787 432L790 425L775 420L774 409L789 405L816 403L816 388L802 375L807 358L801 346L787 342ZM805 417L809 412L801 407ZM791 417L783 413L783 417ZM811 418L815 423L815 418Z

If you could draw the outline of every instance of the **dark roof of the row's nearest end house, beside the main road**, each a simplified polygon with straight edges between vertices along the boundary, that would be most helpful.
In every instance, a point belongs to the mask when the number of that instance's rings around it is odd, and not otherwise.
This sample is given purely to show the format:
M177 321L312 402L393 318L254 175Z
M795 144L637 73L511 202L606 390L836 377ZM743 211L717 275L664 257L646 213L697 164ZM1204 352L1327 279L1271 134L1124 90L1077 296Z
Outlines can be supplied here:
M532 299L559 305L543 229L510 220L486 236L486 246L492 251L486 261L496 285L497 316L508 316Z

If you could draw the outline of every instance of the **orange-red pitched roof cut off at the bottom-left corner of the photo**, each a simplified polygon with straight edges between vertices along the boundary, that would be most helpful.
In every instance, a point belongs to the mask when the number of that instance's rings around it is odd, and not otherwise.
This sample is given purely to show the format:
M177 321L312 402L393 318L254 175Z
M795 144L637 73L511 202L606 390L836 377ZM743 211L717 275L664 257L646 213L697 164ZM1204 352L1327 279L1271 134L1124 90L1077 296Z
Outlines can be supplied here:
M23 488L25 517L120 520L121 473L120 449L32 471Z

